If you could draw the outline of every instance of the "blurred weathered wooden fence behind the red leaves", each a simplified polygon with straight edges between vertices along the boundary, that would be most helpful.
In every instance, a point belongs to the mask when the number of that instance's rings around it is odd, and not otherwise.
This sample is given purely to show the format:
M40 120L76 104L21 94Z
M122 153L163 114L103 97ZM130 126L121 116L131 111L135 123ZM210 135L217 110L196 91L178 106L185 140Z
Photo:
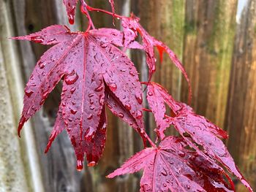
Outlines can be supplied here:
M110 9L106 0L89 4ZM192 82L192 107L228 131L228 149L256 189L256 0L116 0L116 11L134 12L150 34L178 54ZM98 27L111 27L111 17L92 15ZM80 15L76 21L72 29L86 26ZM107 147L95 168L76 171L67 134L43 153L56 118L60 85L18 139L23 86L47 47L7 37L56 23L68 25L61 0L0 0L0 191L138 191L140 174L105 178L141 148L132 128L110 113ZM144 55L130 55L146 80ZM187 101L187 83L167 58L164 61L157 65L154 80L176 99ZM152 117L145 120L152 131ZM240 184L237 188L246 191Z

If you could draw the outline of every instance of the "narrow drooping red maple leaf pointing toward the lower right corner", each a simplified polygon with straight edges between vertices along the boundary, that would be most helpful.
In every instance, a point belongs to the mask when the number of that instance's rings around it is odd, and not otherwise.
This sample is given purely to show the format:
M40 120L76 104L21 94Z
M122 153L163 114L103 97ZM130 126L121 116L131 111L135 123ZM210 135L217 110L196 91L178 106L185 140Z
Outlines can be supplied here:
M212 163L215 160L219 161L231 173L235 174L247 188L252 190L237 169L224 143L219 139L227 139L225 131L203 116L195 114L187 104L175 101L165 88L157 83L148 83L147 99L157 122L157 134L161 139L165 138L165 129L173 125L188 145L197 150L197 153L204 155L206 158L210 157ZM166 117L165 104L170 107L174 117ZM203 147L204 151L200 150L197 145Z

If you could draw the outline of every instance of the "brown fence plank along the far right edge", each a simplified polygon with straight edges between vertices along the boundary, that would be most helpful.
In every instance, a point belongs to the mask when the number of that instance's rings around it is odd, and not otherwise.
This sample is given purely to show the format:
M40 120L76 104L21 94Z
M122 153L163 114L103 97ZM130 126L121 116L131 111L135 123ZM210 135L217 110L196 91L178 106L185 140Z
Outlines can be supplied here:
M227 145L246 179L256 188L256 1L238 15L225 127ZM246 191L239 183L238 191Z

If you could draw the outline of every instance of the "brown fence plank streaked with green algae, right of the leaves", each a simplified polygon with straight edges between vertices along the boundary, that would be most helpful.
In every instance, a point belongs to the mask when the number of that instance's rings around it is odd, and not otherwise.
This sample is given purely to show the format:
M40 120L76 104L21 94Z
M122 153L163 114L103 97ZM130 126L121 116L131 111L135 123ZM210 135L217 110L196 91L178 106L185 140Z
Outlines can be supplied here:
M192 82L192 107L223 127L237 0L186 2L183 63ZM183 101L187 82L183 81Z

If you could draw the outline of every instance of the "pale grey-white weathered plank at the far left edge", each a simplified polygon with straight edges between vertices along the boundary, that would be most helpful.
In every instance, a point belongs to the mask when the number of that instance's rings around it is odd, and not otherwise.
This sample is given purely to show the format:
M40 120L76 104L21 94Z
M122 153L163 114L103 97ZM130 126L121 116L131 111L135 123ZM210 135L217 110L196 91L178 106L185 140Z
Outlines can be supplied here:
M44 191L34 134L29 123L17 135L23 106L23 80L17 49L12 40L10 1L0 1L0 189L1 191Z

